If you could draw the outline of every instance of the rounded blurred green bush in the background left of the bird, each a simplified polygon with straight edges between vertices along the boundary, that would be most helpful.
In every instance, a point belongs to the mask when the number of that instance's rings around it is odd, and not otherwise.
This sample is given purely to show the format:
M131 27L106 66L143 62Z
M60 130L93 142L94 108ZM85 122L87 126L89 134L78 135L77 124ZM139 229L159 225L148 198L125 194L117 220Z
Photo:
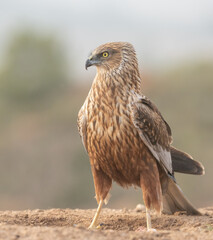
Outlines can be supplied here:
M44 100L66 82L64 56L53 37L32 31L16 34L0 74L0 95L30 104Z

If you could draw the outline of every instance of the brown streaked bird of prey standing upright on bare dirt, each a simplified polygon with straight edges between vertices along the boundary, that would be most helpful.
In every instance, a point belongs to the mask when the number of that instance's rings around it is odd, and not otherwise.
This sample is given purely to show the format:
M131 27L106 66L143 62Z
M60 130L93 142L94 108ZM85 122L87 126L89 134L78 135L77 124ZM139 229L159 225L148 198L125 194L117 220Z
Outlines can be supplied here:
M112 181L143 192L147 230L152 230L150 209L173 214L200 212L186 199L174 172L204 174L201 163L171 146L168 123L146 96L135 50L127 42L96 48L86 69L97 74L78 114L78 129L89 155L98 208L89 228L97 226Z

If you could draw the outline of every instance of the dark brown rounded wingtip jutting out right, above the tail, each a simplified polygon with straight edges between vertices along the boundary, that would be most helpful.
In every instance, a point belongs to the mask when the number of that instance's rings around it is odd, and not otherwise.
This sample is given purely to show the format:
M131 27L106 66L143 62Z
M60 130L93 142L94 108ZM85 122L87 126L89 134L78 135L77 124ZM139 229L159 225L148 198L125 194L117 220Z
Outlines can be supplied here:
M195 161L192 156L171 147L172 168L174 172L203 175L205 170L203 165Z

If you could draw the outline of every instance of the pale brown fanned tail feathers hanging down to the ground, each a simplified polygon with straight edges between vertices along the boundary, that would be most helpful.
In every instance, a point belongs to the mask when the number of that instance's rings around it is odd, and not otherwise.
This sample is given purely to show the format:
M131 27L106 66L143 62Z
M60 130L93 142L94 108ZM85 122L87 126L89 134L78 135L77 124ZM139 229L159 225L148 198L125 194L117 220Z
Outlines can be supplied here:
M189 215L201 215L183 195L180 187L169 177L167 191L163 194L163 213L173 214L177 211L186 211Z

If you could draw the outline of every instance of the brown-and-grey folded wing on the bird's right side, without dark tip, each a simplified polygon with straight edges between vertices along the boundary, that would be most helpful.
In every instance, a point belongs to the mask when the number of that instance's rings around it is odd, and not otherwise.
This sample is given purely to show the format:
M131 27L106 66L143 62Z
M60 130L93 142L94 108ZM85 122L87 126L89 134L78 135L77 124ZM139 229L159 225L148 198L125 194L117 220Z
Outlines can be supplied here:
M131 103L134 126L159 163L172 174L170 144L172 133L157 107L145 96L135 94Z

